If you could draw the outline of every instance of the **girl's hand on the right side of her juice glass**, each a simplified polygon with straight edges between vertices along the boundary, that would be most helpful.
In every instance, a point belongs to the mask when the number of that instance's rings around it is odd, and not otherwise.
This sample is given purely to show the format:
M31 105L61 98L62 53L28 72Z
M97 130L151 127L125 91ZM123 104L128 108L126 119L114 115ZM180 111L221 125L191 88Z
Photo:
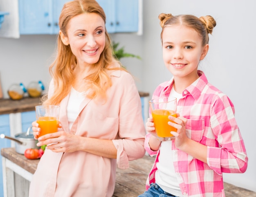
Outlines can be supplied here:
M180 149L183 145L185 145L189 138L186 136L186 122L187 119L180 116L179 113L177 113L177 118L173 116L168 116L170 120L173 122L168 122L168 125L171 125L172 127L175 127L177 129L177 132L171 131L171 134L175 136L175 146Z

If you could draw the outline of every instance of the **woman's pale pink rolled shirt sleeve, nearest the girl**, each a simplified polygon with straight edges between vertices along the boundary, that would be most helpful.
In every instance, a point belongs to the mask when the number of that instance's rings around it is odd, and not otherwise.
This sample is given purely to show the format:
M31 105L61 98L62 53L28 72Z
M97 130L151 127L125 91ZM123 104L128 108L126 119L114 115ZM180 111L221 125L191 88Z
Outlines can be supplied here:
M141 112L141 100L135 81L128 73L122 75L116 92L121 93L119 109L119 129L117 138L112 140L117 149L117 166L129 167L129 161L145 155L144 140L146 129Z

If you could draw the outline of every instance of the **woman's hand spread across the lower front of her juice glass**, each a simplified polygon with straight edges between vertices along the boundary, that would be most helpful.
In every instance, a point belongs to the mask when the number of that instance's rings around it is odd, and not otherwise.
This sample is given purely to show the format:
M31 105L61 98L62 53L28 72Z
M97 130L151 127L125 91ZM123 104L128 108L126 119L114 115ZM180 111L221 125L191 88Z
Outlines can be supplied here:
M52 134L46 134L38 138L38 147L47 145L49 149L55 153L74 152L79 149L79 139L81 136L67 133L65 131L57 131Z

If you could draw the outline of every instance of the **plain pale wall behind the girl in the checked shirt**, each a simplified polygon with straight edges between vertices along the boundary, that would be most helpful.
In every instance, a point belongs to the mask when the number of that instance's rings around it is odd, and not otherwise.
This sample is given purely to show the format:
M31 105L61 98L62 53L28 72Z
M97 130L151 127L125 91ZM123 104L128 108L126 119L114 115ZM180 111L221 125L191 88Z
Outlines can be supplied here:
M162 61L160 13L212 15L217 26L210 37L209 53L202 61L210 83L226 93L236 109L236 120L249 157L243 174L223 175L231 184L256 191L256 1L254 0L144 0L143 88L153 92L171 78Z

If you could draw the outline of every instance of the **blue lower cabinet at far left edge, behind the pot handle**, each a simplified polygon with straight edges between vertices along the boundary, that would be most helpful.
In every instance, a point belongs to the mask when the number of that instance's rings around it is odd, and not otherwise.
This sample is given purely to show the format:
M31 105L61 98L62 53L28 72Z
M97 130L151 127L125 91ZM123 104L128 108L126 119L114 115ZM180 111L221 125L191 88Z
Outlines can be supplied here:
M9 114L0 115L0 134L10 136ZM0 149L11 147L11 140L0 139ZM0 155L0 197L4 197L2 177L2 155Z

